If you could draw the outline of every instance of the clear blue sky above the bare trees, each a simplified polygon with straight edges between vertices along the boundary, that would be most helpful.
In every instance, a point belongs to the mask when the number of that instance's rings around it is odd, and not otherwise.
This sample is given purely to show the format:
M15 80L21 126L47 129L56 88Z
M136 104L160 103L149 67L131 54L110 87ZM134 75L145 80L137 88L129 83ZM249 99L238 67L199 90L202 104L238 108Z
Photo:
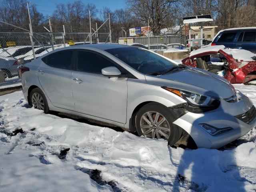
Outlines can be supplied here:
M75 0L30 0L31 3L36 4L39 12L44 14L44 16L51 16L54 10L56 10L56 4L60 3L72 3ZM100 11L103 7L108 7L110 10L114 11L116 9L121 9L126 7L126 0L81 0L84 4L91 3L96 6Z

